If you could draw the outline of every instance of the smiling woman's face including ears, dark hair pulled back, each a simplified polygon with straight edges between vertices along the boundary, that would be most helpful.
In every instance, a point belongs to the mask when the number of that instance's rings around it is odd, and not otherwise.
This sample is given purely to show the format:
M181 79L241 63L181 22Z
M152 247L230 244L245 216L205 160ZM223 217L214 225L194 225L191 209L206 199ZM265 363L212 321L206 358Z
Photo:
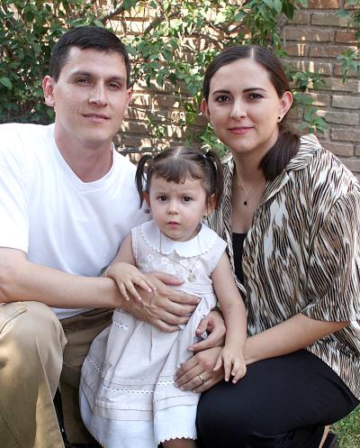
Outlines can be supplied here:
M255 60L238 59L215 72L202 112L234 155L251 152L261 160L278 137L278 116L292 102L290 92L277 96L266 69Z

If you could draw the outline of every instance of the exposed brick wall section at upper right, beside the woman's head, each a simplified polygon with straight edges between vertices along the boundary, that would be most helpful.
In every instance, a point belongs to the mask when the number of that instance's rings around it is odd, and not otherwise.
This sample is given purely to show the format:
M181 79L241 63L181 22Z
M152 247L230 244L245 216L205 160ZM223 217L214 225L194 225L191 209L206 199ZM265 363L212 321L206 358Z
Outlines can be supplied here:
M347 48L356 50L354 23L337 15L345 0L310 0L284 29L284 48L299 69L321 74L325 86L311 91L320 116L329 124L320 141L360 173L360 80L356 74L341 80L337 57Z

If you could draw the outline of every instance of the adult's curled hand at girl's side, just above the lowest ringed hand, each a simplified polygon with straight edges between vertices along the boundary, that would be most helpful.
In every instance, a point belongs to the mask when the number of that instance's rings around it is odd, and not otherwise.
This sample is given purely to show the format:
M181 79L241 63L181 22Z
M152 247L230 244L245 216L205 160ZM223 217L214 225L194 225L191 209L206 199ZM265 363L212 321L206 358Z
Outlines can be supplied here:
M222 347L225 342L226 327L219 308L203 317L196 329L196 335L202 338L199 343L190 345L189 352L201 352L212 347ZM205 336L205 337L203 337Z

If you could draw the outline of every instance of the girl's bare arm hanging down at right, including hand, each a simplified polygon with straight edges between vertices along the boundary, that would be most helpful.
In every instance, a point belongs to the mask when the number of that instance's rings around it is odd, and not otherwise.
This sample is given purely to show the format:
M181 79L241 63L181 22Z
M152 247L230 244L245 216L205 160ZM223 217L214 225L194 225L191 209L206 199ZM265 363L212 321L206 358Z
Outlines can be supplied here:
M225 380L229 381L229 377L232 375L234 377L232 382L236 383L246 373L243 352L247 336L247 313L225 252L212 272L211 279L227 328L225 346L220 352L213 370L220 370L223 366Z

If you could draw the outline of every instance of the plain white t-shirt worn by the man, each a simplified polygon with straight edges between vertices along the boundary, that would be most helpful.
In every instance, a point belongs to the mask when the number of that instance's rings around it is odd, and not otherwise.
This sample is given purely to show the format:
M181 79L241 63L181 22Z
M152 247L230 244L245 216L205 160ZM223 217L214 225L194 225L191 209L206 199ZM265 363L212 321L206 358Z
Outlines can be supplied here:
M0 125L0 247L96 277L130 229L148 220L139 209L136 168L113 151L112 169L85 183L62 158L53 134L54 124ZM62 319L85 310L54 311Z

